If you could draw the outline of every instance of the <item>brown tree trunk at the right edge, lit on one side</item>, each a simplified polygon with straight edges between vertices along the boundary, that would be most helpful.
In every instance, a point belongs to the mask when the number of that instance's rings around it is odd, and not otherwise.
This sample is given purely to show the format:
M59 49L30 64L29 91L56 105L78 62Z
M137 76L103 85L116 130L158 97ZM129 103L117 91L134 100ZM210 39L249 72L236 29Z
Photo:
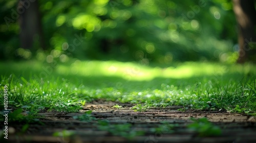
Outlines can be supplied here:
M253 0L233 0L233 10L239 26L238 63L256 61L256 11Z

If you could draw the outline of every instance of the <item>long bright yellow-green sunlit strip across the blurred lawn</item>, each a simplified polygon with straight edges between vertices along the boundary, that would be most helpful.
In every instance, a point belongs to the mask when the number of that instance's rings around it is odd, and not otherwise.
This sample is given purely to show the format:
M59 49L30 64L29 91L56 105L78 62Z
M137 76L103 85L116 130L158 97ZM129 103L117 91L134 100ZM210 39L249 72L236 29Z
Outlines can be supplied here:
M79 61L71 65L59 65L57 73L61 75L79 75L120 77L129 81L150 81L155 78L183 79L202 76L222 76L229 73L247 74L253 72L253 66L245 65L224 65L219 63L185 62L176 66L151 67L140 65L135 62L118 61Z

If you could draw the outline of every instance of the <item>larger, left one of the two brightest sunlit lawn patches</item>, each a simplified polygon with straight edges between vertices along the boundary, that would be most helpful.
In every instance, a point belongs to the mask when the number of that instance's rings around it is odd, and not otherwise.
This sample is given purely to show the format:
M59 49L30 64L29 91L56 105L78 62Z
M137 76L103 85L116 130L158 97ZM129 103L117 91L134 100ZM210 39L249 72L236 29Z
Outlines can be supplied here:
M74 62L71 66L59 65L56 69L61 75L106 76L120 77L126 80L152 80L156 77L156 70L151 67L140 66L136 63L122 63L117 61L83 61Z

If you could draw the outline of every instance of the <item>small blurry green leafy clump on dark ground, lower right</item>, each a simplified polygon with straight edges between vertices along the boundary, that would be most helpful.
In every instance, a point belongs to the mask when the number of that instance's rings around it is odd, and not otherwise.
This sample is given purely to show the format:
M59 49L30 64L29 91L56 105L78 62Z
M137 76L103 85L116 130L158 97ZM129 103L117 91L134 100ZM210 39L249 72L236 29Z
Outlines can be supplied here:
M221 129L210 123L206 117L191 120L194 123L189 124L187 128L195 131L200 137L219 136L222 133Z

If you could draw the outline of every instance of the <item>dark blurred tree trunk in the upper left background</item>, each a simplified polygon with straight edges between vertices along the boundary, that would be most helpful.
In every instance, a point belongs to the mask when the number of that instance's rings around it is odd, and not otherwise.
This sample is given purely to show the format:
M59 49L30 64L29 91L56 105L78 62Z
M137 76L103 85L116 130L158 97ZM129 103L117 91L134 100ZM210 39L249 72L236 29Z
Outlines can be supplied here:
M23 1L18 3L17 11L20 13L20 42L24 49L32 50L32 47L45 49L41 29L38 1ZM40 46L40 47L38 47Z

